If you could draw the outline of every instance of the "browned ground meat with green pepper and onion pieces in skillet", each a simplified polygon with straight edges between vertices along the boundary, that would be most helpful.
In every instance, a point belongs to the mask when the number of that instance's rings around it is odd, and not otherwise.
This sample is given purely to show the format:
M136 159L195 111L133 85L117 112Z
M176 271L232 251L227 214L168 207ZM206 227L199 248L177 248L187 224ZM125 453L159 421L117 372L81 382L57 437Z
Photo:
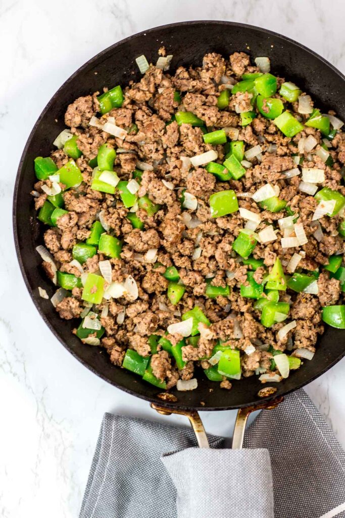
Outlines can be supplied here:
M345 328L343 123L266 57L172 75L159 53L139 82L69 105L35 160L52 303L160 389L195 389L196 367L225 389L278 382L324 323Z

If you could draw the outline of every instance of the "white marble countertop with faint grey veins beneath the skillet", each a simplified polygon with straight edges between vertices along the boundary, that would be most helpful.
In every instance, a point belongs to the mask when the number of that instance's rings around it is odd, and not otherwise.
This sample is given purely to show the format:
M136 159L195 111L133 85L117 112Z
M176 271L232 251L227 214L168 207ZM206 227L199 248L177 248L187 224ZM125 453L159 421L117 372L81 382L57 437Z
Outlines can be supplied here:
M114 42L193 19L266 27L345 71L342 0L2 0L0 2L0 515L77 516L104 412L152 419L145 402L78 363L54 338L26 292L12 238L11 205L25 141L57 88ZM18 314L18 307L20 314ZM345 447L345 360L306 387ZM229 436L233 412L203 412L207 431Z

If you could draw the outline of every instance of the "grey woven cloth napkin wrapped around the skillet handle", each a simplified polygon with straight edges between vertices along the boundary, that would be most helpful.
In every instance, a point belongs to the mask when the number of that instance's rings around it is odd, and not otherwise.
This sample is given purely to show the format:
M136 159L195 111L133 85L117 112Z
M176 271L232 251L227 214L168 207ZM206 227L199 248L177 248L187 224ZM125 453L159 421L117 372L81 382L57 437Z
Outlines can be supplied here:
M208 439L105 414L80 518L345 518L345 452L303 390L260 412L243 450Z

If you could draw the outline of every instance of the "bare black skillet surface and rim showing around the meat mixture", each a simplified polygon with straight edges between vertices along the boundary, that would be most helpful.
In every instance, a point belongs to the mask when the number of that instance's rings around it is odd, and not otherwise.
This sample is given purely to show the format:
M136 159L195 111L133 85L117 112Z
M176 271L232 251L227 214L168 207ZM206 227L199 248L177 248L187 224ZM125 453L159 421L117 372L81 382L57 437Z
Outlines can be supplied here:
M146 384L125 369L113 366L108 354L99 348L84 346L71 334L75 322L62 321L50 300L39 297L37 287L42 286L50 296L52 285L40 268L40 257L35 247L42 243L40 223L35 220L34 202L29 192L35 175L33 161L36 156L48 156L52 142L63 130L67 105L81 95L101 91L104 86L126 84L141 77L134 59L145 54L147 60L156 62L158 48L164 45L173 54L172 68L179 65L200 65L207 52L224 56L235 51L245 51L253 57L269 56L272 71L296 82L317 100L324 109L333 108L345 119L343 96L345 78L332 65L296 42L275 33L231 22L198 21L157 27L140 33L104 50L73 74L52 97L43 110L26 143L19 165L13 203L13 226L20 267L28 291L43 320L62 344L87 368L104 380L133 395L150 401L157 398L158 389ZM95 74L97 72L97 75ZM57 119L57 122L55 122ZM345 330L327 328L321 337L313 361L305 361L287 380L275 384L277 395L284 395L320 376L345 354ZM172 406L199 410L225 410L253 405L258 402L262 385L257 377L234 381L231 391L219 388L198 373L199 387L193 392L175 392L178 402ZM212 389L212 391L211 391ZM201 401L204 405L201 405ZM262 400L260 400L262 401ZM166 406L169 406L166 404Z

